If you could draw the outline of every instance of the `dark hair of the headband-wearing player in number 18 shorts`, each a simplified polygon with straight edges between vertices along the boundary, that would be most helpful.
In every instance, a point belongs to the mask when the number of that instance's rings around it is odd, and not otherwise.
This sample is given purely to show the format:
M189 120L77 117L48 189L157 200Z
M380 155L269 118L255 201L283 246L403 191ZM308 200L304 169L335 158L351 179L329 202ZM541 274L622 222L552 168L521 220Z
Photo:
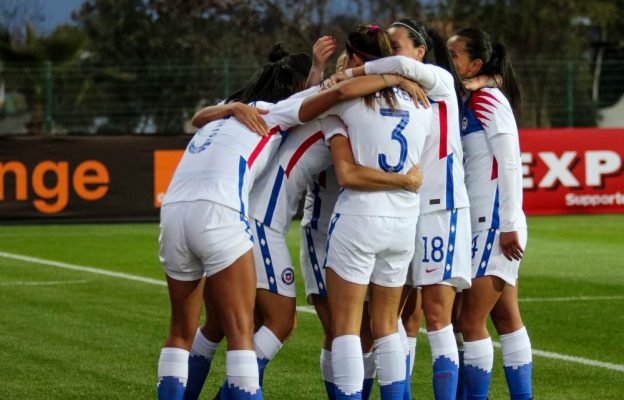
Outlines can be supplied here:
M447 70L453 77L457 102L461 108L462 98L466 94L466 89L455 69L451 54L446 47L446 41L442 39L442 36L435 30L427 28L425 24L407 18L398 20L390 26L407 30L408 37L414 43L414 47L425 46L425 55L433 53L434 64Z

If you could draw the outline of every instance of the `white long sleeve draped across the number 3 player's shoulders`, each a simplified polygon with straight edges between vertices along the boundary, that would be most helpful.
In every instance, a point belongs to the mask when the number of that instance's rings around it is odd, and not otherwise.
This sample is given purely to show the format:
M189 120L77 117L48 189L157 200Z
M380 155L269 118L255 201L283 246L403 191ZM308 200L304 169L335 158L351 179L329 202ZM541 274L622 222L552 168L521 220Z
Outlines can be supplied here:
M418 82L426 92L436 86L436 74L431 65L405 56L384 57L364 64L366 75L399 74Z

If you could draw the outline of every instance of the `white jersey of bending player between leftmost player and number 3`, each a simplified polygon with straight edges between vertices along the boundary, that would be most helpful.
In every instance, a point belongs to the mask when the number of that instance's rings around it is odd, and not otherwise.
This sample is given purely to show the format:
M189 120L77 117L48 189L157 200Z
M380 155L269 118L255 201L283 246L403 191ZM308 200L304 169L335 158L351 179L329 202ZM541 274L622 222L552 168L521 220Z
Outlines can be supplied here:
M249 215L285 235L306 187L331 165L325 135L346 135L346 129L333 116L293 129L251 188Z

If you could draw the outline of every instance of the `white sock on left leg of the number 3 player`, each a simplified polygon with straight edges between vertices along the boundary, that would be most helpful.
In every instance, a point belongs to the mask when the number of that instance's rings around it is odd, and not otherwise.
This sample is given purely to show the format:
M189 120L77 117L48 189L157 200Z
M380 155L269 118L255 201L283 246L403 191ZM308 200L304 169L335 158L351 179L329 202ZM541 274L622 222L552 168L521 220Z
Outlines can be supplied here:
M360 337L344 335L332 341L334 385L347 396L362 391L364 362Z

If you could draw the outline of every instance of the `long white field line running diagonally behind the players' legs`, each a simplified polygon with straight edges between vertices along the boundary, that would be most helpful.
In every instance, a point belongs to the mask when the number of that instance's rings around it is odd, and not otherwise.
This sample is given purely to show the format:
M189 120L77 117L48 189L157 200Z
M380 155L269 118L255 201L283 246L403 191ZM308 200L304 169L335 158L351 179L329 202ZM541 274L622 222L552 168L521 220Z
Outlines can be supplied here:
M148 283L150 285L156 285L156 286L167 285L165 281L161 281L158 279L144 278L138 275L125 274L122 272L107 271L107 270L100 269L100 268L87 267L87 266L76 265L76 264L68 264L68 263L59 262L59 261L46 260L43 258L29 257L29 256L23 256L20 254L7 253L3 251L0 251L0 257L9 258L12 260L24 261L24 262L28 262L31 264L47 265L50 267L64 268L64 269L81 271L81 272L90 272L92 274L99 274L99 275L105 275L105 276L110 276L114 278ZM297 311L308 313L308 314L316 314L316 311L311 306L298 306ZM424 329L421 329L420 331L421 333L425 333ZM500 347L500 343L494 342L494 346ZM565 354L553 353L550 351L543 351L543 350L536 350L536 349L533 349L533 354L536 356L551 358L555 360L568 361L568 362L573 362L577 364L590 365L593 367L601 367L601 368L606 368L606 369L610 369L613 371L624 372L624 365L621 365L621 364L613 364L613 363L608 363L608 362L603 362L603 361L590 360L587 358L568 356Z

